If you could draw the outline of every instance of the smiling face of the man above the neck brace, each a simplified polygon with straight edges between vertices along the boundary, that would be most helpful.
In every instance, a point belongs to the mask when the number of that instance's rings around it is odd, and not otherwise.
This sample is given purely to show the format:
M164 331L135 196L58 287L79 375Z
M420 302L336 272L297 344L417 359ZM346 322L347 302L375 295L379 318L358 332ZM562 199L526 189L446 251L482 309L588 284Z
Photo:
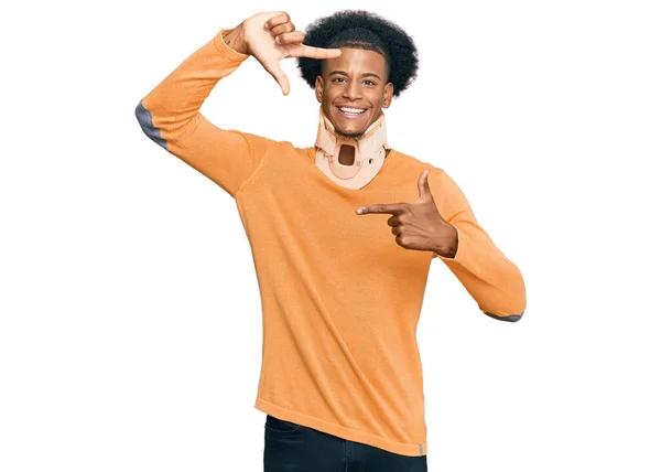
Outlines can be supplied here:
M315 95L339 136L359 138L392 100L386 58L375 52L340 47L342 55L325 61ZM346 108L354 108L354 110ZM365 110L360 114L351 111Z

